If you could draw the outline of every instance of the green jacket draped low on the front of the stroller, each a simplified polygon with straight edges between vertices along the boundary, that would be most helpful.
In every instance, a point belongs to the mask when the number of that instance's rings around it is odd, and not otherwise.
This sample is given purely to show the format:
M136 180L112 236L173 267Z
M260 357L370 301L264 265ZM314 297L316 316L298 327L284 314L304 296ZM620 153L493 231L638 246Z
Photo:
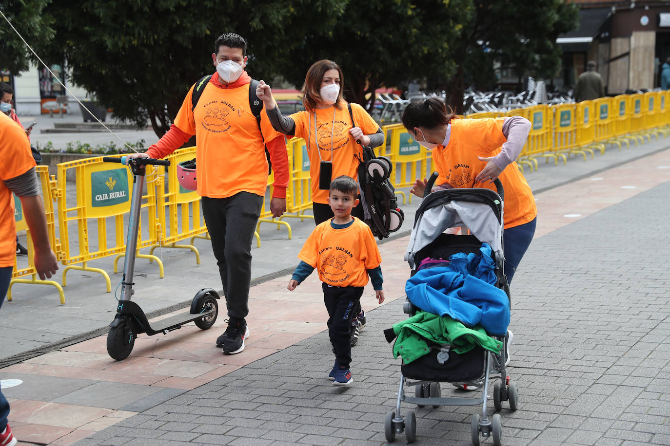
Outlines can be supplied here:
M502 342L488 336L484 328L467 328L449 316L423 311L409 319L393 324L393 333L397 336L393 344L393 356L402 356L405 364L428 354L430 347L425 340L436 344L451 344L456 353L469 352L476 345L498 353Z

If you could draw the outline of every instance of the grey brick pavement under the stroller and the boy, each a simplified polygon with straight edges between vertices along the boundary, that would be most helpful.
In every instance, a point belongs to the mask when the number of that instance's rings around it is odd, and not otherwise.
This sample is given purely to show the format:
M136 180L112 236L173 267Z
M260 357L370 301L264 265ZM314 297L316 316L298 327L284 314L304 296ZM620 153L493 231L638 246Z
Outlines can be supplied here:
M513 284L521 409L502 410L503 444L670 444L669 196L665 181L535 239ZM401 300L369 314L350 389L326 378L322 332L76 445L383 444L399 361L381 330ZM418 444L469 443L474 407L414 410Z

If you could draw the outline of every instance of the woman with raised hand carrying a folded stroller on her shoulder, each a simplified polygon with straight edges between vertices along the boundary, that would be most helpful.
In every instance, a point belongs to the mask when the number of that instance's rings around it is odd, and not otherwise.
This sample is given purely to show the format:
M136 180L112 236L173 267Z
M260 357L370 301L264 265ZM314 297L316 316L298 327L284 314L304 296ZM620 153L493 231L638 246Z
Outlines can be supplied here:
M357 156L362 152L358 142L371 147L384 143L384 134L379 124L364 108L352 103L349 114L342 96L343 85L344 76L338 64L331 60L314 63L302 87L305 110L287 117L281 115L270 87L265 82L261 80L256 90L275 130L306 141L310 156L312 209L317 225L334 216L328 205L330 180L340 175L358 178L360 161ZM351 215L364 220L360 203Z

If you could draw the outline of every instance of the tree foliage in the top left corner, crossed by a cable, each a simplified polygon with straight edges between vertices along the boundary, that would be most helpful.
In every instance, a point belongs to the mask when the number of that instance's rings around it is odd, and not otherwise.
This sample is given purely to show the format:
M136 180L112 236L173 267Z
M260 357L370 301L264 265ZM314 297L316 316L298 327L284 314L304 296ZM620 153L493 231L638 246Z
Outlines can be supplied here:
M0 0L0 11L30 45L40 45L54 36L52 17L44 13L50 0ZM0 68L13 74L28 70L33 53L7 21L0 16Z

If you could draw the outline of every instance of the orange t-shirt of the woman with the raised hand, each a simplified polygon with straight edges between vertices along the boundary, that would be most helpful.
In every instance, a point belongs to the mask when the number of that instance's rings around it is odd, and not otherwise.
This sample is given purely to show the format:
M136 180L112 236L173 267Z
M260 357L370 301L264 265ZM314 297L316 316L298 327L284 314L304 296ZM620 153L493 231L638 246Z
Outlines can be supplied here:
M379 124L359 104L351 104L356 126L363 134L377 132ZM314 114L316 113L316 131L314 130ZM334 116L333 116L334 113ZM358 158L354 154L361 154L360 145L352 138L349 130L353 128L351 116L346 105L342 108L332 106L321 108L314 112L297 112L289 116L295 122L295 137L307 141L306 146L310 154L310 178L312 179L312 201L314 203L328 203L328 191L319 189L319 170L321 160L332 160L332 180L340 175L347 175L358 179ZM311 122L310 122L311 121ZM311 129L311 132L310 132ZM332 154L331 154L332 136ZM319 146L319 151L313 150Z

